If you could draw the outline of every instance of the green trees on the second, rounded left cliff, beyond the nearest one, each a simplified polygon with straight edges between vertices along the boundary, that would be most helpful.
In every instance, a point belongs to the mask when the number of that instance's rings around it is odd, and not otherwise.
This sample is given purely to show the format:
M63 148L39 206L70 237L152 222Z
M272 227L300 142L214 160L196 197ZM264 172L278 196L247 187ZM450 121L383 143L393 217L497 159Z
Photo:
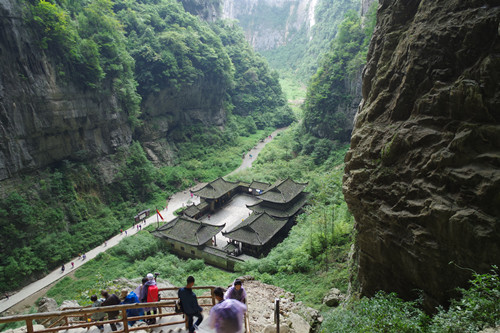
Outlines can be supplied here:
M114 9L136 62L139 92L180 89L209 77L222 87L231 80L231 62L220 39L174 0L116 0Z

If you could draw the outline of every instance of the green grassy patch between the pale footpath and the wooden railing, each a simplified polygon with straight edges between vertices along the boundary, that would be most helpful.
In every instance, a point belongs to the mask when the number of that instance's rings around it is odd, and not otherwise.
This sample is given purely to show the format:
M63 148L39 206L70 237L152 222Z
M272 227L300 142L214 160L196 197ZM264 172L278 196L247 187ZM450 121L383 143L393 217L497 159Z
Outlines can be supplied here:
M58 304L72 299L80 305L88 305L90 296L99 294L101 289L119 292L123 286L115 280L140 280L151 272L160 273L159 281L165 279L176 286L184 286L189 275L196 278L198 285L219 286L226 286L237 277L236 273L205 265L203 260L180 259L169 253L161 240L141 231L85 263L74 277L63 278L47 296Z

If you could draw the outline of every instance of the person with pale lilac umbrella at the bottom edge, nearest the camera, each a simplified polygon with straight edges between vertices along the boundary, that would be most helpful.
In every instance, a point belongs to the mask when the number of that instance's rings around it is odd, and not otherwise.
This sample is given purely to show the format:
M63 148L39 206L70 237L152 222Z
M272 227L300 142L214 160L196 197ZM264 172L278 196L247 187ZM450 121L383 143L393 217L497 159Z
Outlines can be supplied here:
M246 305L235 299L224 299L224 290L220 287L214 289L214 297L219 303L210 310L210 328L215 328L217 333L242 332Z

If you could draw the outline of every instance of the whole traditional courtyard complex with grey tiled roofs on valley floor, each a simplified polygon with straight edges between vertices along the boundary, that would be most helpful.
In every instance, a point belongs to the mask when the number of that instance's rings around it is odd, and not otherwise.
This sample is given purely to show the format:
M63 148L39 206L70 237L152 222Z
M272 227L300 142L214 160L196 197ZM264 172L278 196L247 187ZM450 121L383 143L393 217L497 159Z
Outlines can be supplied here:
M154 234L164 239L170 250L180 256L201 258L208 264L233 270L234 264L242 261L237 256L266 255L288 235L297 214L307 203L306 186L307 183L297 183L289 178L273 185L258 181L250 184L229 182L218 178L192 192L200 197L199 204L188 206L182 216L159 227ZM259 201L247 205L252 213L231 230L222 232L225 224L199 220L221 209L237 194L252 195ZM217 246L215 242L221 232L227 245Z

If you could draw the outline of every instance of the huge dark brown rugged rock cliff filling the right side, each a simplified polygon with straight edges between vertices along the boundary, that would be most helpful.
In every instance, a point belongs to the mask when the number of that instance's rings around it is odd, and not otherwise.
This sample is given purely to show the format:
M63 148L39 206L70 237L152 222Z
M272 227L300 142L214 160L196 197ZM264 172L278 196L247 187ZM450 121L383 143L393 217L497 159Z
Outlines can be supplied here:
M500 264L498 4L380 1L344 177L363 295L431 309Z

